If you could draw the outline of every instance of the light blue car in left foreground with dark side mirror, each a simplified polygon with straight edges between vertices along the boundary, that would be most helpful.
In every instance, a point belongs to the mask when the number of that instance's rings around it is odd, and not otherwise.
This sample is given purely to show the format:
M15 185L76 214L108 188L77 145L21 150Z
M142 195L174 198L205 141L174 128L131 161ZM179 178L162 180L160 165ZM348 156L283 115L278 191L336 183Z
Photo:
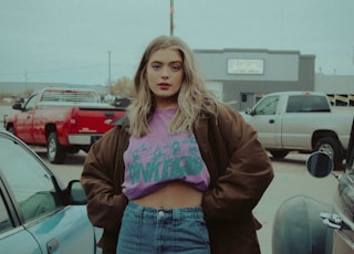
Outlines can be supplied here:
M79 180L63 186L24 142L0 129L0 253L101 253Z

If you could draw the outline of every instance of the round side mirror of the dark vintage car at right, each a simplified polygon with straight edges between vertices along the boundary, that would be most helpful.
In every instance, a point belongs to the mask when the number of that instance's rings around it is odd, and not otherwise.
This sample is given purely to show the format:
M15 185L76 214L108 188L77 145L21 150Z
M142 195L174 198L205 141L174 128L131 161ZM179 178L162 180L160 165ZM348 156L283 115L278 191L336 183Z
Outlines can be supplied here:
M306 168L315 178L327 177L333 170L332 157L322 151L313 152L306 160Z

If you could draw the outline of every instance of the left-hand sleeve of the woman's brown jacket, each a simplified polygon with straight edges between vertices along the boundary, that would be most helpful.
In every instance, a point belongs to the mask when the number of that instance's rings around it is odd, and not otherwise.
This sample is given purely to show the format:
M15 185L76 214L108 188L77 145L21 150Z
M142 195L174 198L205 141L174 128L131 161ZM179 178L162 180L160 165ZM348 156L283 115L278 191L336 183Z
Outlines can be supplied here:
M123 173L119 170L124 168L117 168L123 160L123 155L117 155L118 134L116 127L91 147L81 176L88 218L93 225L108 231L118 231L127 204L126 197L121 193Z

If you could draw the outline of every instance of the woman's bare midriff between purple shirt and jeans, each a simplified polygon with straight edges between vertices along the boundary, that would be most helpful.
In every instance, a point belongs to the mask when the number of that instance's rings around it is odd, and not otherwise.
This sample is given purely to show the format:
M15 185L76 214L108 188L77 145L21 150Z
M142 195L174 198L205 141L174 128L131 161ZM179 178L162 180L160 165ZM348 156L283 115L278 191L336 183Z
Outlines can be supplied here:
M200 207L201 198L201 191L184 182L176 181L133 201L137 204L155 209L174 209Z

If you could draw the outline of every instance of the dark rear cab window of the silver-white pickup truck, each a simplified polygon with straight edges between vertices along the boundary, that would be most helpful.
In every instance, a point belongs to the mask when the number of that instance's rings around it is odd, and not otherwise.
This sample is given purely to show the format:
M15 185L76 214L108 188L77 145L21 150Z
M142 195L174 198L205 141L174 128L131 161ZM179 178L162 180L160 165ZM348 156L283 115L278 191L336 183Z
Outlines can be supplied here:
M306 112L331 112L325 96L316 95L292 95L289 96L287 113Z

